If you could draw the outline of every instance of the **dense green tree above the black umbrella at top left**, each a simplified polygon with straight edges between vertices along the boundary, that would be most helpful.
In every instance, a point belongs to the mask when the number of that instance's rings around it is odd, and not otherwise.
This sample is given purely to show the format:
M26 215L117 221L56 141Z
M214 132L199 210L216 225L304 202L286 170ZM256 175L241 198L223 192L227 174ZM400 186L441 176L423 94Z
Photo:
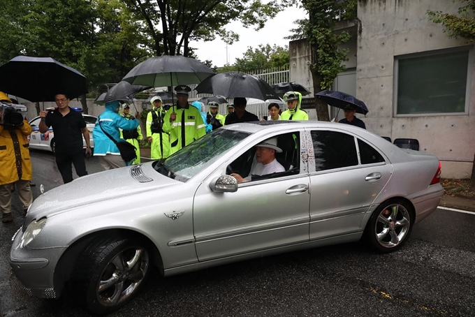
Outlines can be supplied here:
M151 55L141 17L120 0L4 1L2 64L20 54L52 57L85 75L94 91L97 84L118 82Z

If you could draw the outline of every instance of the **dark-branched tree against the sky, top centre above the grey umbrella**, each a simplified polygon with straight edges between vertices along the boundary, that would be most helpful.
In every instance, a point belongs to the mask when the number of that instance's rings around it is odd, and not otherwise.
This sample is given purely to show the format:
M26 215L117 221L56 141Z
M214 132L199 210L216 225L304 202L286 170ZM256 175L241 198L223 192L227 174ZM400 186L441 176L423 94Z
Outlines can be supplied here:
M225 43L232 44L239 35L224 28L229 22L239 20L244 27L254 26L258 30L280 10L295 3L295 0L268 3L261 0L124 1L147 25L156 55L186 57L193 51L189 45L191 40L211 41L219 36Z

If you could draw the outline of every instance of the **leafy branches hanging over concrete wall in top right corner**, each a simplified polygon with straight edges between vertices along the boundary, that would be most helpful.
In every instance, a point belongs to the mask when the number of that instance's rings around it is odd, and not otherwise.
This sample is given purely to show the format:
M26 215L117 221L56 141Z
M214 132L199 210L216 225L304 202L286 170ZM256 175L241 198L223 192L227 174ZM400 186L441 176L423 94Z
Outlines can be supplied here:
M460 36L466 38L467 43L469 43L475 40L475 0L458 1L467 3L465 6L458 9L458 15L428 10L429 20L444 25L444 32L448 34L448 37L458 38ZM455 0L453 0L453 2L455 2ZM472 184L472 187L475 187L475 154L470 183Z

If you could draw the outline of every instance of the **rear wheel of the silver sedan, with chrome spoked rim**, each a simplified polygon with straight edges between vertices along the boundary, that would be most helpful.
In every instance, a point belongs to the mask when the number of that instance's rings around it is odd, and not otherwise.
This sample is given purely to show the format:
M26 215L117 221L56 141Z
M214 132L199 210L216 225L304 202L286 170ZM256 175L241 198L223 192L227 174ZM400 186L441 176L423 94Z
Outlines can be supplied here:
M401 199L383 202L368 221L365 235L372 249L390 253L406 243L414 226L412 206Z

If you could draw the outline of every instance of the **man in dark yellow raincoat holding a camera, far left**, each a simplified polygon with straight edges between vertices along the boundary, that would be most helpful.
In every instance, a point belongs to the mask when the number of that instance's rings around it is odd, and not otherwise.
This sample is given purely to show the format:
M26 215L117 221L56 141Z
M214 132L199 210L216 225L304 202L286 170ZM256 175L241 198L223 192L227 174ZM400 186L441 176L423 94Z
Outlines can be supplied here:
M1 94L3 93L0 91ZM10 101L6 96L2 99ZM0 103L0 118L0 210L1 222L7 223L13 221L12 184L17 187L18 196L23 204L23 214L27 213L29 205L33 203L29 185L32 172L27 139L31 134L31 126L13 104Z

